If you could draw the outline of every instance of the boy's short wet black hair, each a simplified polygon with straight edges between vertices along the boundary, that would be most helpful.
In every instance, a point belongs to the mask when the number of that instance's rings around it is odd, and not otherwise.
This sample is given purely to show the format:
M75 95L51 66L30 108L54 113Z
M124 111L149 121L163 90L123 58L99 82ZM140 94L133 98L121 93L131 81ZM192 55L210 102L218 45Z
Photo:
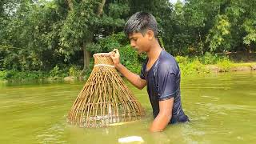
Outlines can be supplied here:
M137 12L126 22L125 33L127 36L132 33L142 33L144 36L144 34L146 34L146 30L152 30L154 32L154 38L157 38L158 22L152 14Z

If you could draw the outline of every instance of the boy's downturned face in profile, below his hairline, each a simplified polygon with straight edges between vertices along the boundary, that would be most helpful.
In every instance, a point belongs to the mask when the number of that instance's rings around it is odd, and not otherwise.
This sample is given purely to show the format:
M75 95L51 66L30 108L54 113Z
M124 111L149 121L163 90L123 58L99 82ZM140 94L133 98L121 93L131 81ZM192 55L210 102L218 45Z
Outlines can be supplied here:
M154 36L154 35L153 35ZM130 46L132 46L138 53L147 52L150 49L150 42L152 36L149 33L149 30L142 35L142 33L132 33L129 34Z

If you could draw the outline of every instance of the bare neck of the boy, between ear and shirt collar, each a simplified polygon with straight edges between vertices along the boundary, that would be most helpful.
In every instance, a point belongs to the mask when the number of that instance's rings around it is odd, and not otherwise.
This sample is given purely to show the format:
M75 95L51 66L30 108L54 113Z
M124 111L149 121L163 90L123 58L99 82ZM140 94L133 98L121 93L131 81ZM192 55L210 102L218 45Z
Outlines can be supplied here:
M149 60L155 60L159 57L160 53L162 51L161 46L158 42L154 42L153 45L150 46L150 50L146 53Z

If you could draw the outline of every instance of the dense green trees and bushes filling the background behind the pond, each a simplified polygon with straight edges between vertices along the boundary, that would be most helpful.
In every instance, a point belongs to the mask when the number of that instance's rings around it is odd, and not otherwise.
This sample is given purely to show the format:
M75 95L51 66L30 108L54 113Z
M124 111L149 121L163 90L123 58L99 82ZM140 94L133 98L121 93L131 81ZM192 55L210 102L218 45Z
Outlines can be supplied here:
M154 14L159 39L178 62L200 66L217 63L223 51L254 53L254 7L254 0L2 0L0 77L88 75L92 54L114 48L139 73L145 55L132 50L122 32L137 11Z

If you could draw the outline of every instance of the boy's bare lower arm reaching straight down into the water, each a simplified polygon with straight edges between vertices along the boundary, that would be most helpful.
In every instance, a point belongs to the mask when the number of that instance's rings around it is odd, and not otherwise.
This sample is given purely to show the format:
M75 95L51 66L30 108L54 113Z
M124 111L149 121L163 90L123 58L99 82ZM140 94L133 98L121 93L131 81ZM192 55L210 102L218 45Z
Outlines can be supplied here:
M174 105L174 98L159 101L159 113L154 122L150 126L150 131L162 131L166 128L170 122L172 116L172 109Z

